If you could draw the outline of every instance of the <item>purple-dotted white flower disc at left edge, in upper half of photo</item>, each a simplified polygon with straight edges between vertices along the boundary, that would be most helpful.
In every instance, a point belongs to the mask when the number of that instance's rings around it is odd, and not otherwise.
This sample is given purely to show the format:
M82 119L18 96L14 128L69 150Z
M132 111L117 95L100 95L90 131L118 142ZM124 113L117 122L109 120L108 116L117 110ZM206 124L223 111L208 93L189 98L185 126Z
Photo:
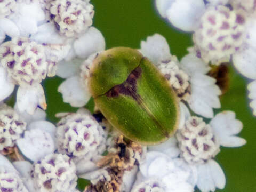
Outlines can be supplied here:
M12 38L0 47L1 64L14 84L31 86L47 75L44 47L28 38Z

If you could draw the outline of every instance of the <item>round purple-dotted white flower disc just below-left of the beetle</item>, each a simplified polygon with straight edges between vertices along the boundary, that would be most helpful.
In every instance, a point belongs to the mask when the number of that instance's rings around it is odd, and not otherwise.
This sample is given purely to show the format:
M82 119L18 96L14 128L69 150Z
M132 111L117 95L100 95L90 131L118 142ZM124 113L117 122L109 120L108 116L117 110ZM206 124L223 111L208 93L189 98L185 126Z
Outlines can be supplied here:
M59 153L70 157L90 159L106 148L105 132L89 113L63 117L57 124L56 135Z

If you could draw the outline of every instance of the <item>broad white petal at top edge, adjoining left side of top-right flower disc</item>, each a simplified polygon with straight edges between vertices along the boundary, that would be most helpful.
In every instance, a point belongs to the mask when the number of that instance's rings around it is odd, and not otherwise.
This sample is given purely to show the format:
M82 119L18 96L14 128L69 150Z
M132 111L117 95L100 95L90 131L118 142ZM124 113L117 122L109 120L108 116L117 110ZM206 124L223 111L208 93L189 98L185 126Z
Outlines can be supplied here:
M204 9L203 0L176 0L167 10L167 18L175 27L193 31Z

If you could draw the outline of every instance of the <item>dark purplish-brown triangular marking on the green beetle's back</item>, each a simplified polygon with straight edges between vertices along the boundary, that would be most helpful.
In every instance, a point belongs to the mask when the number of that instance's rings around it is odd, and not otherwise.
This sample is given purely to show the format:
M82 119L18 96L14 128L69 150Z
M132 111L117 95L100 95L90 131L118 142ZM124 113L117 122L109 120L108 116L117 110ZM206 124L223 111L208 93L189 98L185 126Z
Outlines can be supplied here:
M126 81L120 85L112 87L106 96L110 98L118 97L120 94L131 96L134 100L138 101L137 91L137 79L141 76L142 69L140 67L135 68Z

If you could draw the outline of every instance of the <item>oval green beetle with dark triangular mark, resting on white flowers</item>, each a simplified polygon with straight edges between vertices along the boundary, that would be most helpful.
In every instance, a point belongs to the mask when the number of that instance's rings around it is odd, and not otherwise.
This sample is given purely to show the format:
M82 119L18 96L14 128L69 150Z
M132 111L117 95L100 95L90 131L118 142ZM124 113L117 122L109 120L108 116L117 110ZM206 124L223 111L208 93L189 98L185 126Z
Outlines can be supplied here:
M142 145L163 142L179 125L179 102L162 73L131 48L93 61L88 81L95 105L118 131Z

